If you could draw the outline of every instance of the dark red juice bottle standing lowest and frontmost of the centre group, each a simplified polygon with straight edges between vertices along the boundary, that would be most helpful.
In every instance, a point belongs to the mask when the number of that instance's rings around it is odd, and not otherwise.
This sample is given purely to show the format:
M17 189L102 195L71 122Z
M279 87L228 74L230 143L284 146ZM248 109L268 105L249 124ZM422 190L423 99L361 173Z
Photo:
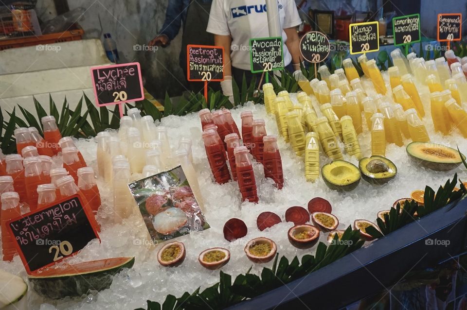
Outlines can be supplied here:
M248 157L248 149L245 146L239 146L234 150L235 165L237 167L237 182L242 194L242 201L252 203L258 202L256 191L256 180L254 178L253 167Z

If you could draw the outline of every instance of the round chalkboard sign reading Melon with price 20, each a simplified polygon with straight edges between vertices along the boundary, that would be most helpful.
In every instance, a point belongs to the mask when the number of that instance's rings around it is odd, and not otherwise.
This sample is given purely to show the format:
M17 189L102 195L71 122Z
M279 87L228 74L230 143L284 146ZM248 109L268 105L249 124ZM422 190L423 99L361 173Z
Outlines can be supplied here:
M331 52L331 44L326 34L311 31L300 40L300 52L306 61L319 63L324 61Z

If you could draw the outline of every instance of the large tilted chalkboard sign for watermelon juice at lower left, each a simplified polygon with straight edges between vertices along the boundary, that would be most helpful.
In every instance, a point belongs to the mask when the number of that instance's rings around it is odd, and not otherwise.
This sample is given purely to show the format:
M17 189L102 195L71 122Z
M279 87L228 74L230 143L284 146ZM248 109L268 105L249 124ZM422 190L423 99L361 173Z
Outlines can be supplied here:
M99 238L78 195L7 223L28 274L74 255Z

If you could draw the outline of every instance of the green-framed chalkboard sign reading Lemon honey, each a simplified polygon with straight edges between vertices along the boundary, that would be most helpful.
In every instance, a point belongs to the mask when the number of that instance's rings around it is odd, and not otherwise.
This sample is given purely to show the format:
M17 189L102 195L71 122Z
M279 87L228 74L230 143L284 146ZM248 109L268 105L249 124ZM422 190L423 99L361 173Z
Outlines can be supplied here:
M420 42L420 14L393 18L394 45Z

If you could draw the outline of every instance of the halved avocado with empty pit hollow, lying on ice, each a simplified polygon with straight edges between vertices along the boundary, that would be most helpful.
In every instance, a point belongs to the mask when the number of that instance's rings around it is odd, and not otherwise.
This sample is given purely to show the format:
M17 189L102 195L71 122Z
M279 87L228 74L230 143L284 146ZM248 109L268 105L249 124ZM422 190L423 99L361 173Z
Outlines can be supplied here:
M352 163L334 160L321 169L326 186L337 191L351 191L360 183L360 170Z

